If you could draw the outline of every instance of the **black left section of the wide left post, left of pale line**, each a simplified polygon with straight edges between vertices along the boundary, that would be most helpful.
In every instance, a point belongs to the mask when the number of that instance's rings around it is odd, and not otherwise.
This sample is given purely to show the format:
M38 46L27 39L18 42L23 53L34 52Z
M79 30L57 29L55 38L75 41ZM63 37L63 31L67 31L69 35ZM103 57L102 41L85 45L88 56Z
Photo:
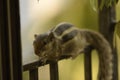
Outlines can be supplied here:
M6 1L0 0L0 80L12 80Z

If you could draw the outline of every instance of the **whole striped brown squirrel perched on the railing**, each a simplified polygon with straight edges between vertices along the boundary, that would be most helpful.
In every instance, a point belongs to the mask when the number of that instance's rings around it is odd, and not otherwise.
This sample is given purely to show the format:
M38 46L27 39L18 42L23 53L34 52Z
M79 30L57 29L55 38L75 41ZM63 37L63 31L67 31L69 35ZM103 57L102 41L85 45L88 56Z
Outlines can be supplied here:
M33 42L35 54L43 63L46 60L57 61L61 56L74 59L89 45L98 51L98 80L112 80L112 50L100 33L78 29L70 23L60 23L44 34L35 35Z

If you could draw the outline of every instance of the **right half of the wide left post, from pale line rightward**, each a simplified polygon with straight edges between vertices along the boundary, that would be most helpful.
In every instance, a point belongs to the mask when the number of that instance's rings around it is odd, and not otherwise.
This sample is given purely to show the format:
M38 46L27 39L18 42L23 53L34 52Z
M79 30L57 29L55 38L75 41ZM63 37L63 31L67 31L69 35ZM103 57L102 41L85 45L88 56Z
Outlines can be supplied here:
M7 17L13 80L22 80L19 0L7 0Z

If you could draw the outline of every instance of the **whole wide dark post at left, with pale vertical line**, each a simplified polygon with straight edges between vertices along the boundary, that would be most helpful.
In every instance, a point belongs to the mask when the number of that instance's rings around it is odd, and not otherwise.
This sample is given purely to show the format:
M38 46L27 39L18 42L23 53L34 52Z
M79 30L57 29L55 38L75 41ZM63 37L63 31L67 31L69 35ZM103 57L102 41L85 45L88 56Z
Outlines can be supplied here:
M0 79L22 80L19 0L0 0Z

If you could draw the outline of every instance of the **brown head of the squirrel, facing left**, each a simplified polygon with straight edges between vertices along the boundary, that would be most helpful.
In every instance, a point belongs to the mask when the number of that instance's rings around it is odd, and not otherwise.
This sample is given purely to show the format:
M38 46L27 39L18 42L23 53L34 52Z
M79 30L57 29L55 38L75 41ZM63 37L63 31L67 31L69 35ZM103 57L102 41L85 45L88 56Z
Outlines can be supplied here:
M40 58L45 58L52 51L53 41L55 40L54 34L44 33L40 35L34 35L35 40L33 42L35 54Z

